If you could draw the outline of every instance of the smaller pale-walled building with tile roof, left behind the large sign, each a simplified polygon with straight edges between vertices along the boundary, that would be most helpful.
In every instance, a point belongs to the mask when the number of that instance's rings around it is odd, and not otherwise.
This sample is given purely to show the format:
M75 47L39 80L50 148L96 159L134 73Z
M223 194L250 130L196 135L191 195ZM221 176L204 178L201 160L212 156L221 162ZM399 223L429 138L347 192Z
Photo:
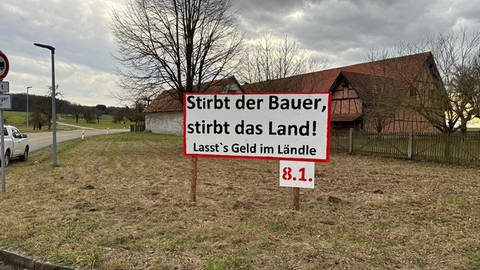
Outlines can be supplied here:
M202 93L242 92L235 77L216 80L200 87ZM173 90L162 92L145 109L145 130L153 133L183 134L183 105Z

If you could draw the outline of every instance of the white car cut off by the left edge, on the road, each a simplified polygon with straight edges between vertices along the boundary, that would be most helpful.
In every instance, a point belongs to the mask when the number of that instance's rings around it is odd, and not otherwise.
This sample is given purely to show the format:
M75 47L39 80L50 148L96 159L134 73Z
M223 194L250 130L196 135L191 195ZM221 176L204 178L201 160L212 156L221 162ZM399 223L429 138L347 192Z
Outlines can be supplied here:
M30 145L27 134L22 134L18 128L10 125L3 126L5 143L5 165L8 166L12 158L28 159ZM1 164L0 164L1 165Z

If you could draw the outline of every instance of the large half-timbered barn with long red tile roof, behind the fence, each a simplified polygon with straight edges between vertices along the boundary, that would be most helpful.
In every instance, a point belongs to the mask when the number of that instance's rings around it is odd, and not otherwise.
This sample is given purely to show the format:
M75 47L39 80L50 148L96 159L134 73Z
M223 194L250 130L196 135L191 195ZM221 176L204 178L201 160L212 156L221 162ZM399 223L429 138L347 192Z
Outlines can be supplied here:
M332 127L367 132L435 131L424 117L406 109L441 83L432 53L327 69L242 85L246 93L332 93Z

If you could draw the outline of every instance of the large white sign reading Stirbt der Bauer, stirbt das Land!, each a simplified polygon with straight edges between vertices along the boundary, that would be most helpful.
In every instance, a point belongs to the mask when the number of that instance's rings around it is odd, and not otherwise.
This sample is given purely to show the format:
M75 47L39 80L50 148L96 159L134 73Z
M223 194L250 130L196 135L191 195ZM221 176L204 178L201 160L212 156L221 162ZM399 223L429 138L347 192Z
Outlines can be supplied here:
M329 93L186 94L184 154L328 161Z

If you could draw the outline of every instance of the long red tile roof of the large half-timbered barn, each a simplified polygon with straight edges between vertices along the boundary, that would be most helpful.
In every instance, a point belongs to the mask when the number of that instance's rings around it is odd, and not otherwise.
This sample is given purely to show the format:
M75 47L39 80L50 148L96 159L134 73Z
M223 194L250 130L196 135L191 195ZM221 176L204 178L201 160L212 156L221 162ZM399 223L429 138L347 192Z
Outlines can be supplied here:
M255 92L327 92L342 71L411 81L432 53L425 52L380 61L338 67L283 79L244 84L246 93Z

